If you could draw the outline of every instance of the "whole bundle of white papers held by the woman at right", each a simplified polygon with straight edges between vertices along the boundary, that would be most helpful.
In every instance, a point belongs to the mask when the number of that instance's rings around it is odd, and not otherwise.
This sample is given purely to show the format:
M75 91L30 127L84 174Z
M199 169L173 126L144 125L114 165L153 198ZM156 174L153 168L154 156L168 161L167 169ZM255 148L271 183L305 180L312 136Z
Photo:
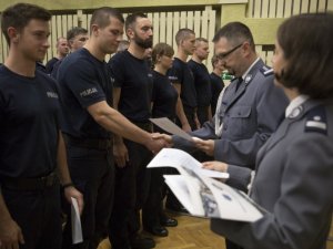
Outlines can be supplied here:
M180 175L164 175L165 183L192 215L255 221L266 212L245 194L214 179L228 178L229 174L202 169L201 163L183 151L163 148L148 167L179 170Z

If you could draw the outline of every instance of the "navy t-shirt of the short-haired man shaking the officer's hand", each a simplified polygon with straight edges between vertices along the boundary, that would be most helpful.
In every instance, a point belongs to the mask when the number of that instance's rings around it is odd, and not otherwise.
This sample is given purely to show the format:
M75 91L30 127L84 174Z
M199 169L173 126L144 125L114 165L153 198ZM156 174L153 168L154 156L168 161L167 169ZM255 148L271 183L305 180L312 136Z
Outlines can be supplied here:
M62 60L57 80L63 113L62 131L78 138L110 138L110 133L87 110L101 101L112 106L112 82L107 63L82 48Z

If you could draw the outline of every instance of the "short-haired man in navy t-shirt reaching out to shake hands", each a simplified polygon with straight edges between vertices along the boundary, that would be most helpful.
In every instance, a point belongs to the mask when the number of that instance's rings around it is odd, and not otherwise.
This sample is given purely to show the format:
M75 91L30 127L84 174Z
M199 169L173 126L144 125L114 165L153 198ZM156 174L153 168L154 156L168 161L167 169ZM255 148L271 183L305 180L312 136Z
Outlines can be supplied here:
M121 13L112 8L95 10L90 39L63 59L58 72L69 169L85 201L83 242L75 248L97 248L108 234L114 193L111 132L144 144L149 151L158 152L163 146L110 107L112 81L104 56L115 52L123 34L123 21ZM64 228L63 248L72 248L70 221Z

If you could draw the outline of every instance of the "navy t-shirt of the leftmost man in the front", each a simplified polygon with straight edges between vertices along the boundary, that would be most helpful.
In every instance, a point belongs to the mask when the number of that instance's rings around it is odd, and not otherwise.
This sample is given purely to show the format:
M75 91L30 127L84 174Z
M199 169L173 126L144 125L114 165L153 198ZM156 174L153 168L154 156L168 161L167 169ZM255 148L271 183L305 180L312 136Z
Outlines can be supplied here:
M0 65L1 177L40 177L57 166L60 103L54 80Z

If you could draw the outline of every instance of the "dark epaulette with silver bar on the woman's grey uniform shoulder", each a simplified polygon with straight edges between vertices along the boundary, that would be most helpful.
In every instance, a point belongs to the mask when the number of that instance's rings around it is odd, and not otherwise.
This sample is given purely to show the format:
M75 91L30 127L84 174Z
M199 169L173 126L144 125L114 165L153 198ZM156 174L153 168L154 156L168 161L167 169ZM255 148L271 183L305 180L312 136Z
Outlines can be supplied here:
M312 110L310 110L305 114L305 127L304 132L315 132L327 135L327 117L325 107L323 105L319 105Z

